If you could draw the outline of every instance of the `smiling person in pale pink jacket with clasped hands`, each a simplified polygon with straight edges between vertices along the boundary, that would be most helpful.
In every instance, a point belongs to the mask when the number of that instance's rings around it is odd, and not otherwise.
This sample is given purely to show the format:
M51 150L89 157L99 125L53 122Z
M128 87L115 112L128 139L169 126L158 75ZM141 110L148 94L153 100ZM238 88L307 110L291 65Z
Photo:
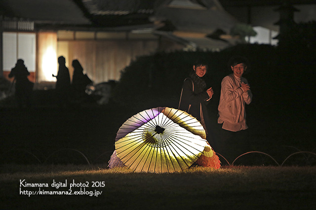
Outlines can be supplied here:
M233 73L222 80L218 106L218 123L221 126L220 153L237 158L249 147L245 104L250 104L252 93L247 80L242 77L248 61L243 57L233 57L229 61ZM231 150L232 149L232 150ZM235 156L235 157L234 157Z

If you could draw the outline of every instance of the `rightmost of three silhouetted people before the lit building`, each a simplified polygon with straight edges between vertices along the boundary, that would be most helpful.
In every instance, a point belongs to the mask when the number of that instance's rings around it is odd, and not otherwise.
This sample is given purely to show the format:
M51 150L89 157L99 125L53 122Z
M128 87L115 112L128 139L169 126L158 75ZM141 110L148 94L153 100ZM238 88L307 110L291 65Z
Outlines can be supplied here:
M72 66L74 67L72 89L74 91L75 100L83 100L86 96L85 88L92 81L86 74L83 74L83 68L79 60L73 60Z

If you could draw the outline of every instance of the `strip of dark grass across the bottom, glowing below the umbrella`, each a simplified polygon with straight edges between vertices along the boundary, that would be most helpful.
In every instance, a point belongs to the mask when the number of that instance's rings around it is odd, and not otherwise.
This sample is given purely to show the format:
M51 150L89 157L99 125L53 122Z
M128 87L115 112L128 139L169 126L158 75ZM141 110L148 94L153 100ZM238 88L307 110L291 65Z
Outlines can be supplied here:
M194 167L182 173L133 173L100 165L2 165L0 209L217 209L313 210L316 206L316 167ZM95 195L22 195L47 183L41 191L68 191L70 183L89 183L74 191ZM55 182L66 187L51 187ZM92 187L100 181L102 187Z

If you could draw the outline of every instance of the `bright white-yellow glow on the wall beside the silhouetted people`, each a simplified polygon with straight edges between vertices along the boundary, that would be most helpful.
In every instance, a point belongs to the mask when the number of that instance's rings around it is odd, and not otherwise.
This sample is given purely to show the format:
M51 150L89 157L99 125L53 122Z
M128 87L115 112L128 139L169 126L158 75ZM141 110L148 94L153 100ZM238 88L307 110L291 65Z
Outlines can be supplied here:
M44 81L53 82L56 81L52 74L57 74L57 53L52 46L48 46L42 58L41 63L42 78Z

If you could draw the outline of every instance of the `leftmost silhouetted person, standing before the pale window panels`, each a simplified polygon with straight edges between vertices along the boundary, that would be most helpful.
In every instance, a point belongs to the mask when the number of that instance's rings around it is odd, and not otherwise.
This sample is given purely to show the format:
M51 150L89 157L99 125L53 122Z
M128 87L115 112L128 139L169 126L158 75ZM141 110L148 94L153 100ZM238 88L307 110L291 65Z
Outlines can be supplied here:
M24 60L17 60L14 68L11 69L9 78L14 77L15 80L15 97L19 107L23 105L31 105L31 95L34 84L29 81L30 72L24 65Z

